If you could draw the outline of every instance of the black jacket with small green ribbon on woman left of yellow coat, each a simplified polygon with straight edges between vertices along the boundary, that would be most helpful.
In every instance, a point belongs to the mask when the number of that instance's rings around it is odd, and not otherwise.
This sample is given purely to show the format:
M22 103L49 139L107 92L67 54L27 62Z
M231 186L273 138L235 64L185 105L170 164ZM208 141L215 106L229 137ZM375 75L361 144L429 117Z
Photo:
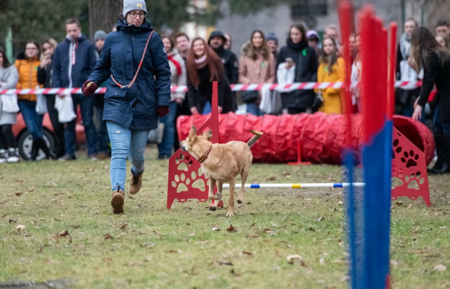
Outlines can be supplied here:
M314 48L308 46L306 40L298 43L287 39L287 46L281 48L277 57L277 68L287 57L291 57L296 64L295 82L316 82L318 61ZM296 90L290 93L281 93L282 106L296 109L307 109L314 102L314 90Z

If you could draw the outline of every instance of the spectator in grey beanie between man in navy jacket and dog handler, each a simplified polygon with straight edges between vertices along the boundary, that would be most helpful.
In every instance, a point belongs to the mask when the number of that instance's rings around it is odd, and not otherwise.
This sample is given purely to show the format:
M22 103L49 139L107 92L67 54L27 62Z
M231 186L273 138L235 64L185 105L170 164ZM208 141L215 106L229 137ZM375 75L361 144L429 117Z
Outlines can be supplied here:
M96 44L97 52L100 55L105 45L106 32L97 30L93 35L94 44ZM105 86L105 83L100 86ZM93 123L97 132L98 154L97 158L104 160L109 158L111 149L109 148L109 136L106 122L103 121L103 107L105 106L105 93L98 93L94 97L93 102Z

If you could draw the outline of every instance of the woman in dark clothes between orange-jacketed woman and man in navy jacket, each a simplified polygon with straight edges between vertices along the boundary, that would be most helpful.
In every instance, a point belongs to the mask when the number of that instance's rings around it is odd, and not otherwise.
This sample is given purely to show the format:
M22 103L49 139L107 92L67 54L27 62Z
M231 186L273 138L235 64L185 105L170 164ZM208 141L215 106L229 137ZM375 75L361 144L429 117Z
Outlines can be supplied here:
M56 46L57 42L53 38L47 38L42 42L41 64L37 68L37 82L44 88L52 87L51 66ZM64 156L64 124L58 119L58 112L55 109L55 95L47 94L44 96L46 97L48 116L56 138L55 154L57 158L61 158Z

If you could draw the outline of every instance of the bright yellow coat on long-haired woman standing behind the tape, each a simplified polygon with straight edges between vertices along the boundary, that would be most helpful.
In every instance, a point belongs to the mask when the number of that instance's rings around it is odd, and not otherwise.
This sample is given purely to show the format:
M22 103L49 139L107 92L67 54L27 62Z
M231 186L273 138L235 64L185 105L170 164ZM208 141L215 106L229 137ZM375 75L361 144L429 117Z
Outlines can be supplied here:
M337 62L332 67L332 73L328 73L328 64L321 62L317 70L318 82L343 82L345 75L345 63L342 57L338 57ZM324 113L342 113L341 109L341 88L320 89L323 97L323 104L318 109Z

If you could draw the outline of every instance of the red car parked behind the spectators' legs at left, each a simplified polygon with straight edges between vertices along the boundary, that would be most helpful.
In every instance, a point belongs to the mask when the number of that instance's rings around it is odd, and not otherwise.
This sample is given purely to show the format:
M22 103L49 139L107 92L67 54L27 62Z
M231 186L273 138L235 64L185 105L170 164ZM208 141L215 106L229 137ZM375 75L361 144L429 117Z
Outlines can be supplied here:
M75 131L77 134L78 143L84 143L84 127L81 120L80 108L78 108L77 111L77 124L75 127ZM20 156L24 160L29 160L31 154L31 145L33 144L33 136L31 136L30 132L28 132L28 130L26 129L26 124L21 113L17 113L17 123L12 126L12 133L14 133L14 136L17 139ZM47 143L47 146L50 147L52 151L55 151L56 136L55 133L53 133L53 126L51 125L48 113L44 115L44 120L42 121L42 137ZM42 150L39 149L39 153L36 159L40 160L42 158L45 158L45 154Z

